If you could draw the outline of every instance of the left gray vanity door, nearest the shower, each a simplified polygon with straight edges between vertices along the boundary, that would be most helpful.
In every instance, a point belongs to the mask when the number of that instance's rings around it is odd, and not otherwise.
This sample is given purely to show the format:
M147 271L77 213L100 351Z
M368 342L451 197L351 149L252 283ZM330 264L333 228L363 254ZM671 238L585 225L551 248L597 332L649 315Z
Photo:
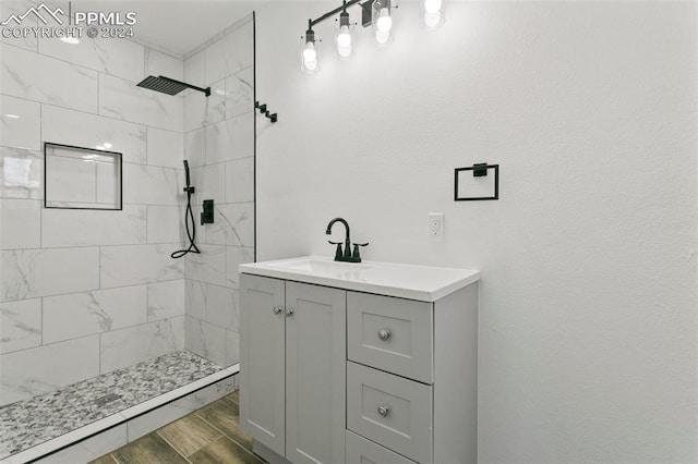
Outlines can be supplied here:
M284 290L282 280L240 276L240 426L280 455L286 447Z

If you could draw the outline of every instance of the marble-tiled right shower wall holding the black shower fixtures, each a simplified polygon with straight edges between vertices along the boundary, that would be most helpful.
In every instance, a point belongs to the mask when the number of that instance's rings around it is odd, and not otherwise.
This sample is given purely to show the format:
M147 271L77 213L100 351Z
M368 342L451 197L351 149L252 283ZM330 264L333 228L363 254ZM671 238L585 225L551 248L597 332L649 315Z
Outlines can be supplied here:
M195 217L215 202L215 223L196 232L202 254L186 259L185 346L221 366L239 361L238 265L254 259L253 61L252 16L184 61L184 80L212 88L184 97Z

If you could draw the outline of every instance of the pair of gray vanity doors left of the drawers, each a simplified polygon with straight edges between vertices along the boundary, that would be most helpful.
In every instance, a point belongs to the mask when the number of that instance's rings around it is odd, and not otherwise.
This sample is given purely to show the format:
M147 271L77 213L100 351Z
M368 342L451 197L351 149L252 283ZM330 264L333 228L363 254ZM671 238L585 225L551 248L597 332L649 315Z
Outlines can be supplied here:
M240 302L240 424L255 452L344 462L346 292L243 273Z

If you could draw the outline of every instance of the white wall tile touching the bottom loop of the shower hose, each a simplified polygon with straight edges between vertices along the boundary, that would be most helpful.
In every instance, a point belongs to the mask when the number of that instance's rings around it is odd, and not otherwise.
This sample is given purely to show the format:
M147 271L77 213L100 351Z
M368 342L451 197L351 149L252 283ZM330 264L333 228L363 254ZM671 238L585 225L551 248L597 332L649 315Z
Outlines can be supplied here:
M181 279L184 264L170 257L176 247L166 244L101 247L101 288Z

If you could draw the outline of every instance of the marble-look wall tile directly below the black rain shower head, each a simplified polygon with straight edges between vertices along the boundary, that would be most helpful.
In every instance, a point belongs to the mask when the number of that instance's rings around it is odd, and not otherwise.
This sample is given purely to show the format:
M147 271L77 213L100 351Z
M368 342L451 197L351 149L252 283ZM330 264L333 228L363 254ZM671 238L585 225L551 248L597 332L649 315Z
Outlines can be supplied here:
M137 87L119 77L99 76L101 115L179 132L183 124L182 112L181 97Z

